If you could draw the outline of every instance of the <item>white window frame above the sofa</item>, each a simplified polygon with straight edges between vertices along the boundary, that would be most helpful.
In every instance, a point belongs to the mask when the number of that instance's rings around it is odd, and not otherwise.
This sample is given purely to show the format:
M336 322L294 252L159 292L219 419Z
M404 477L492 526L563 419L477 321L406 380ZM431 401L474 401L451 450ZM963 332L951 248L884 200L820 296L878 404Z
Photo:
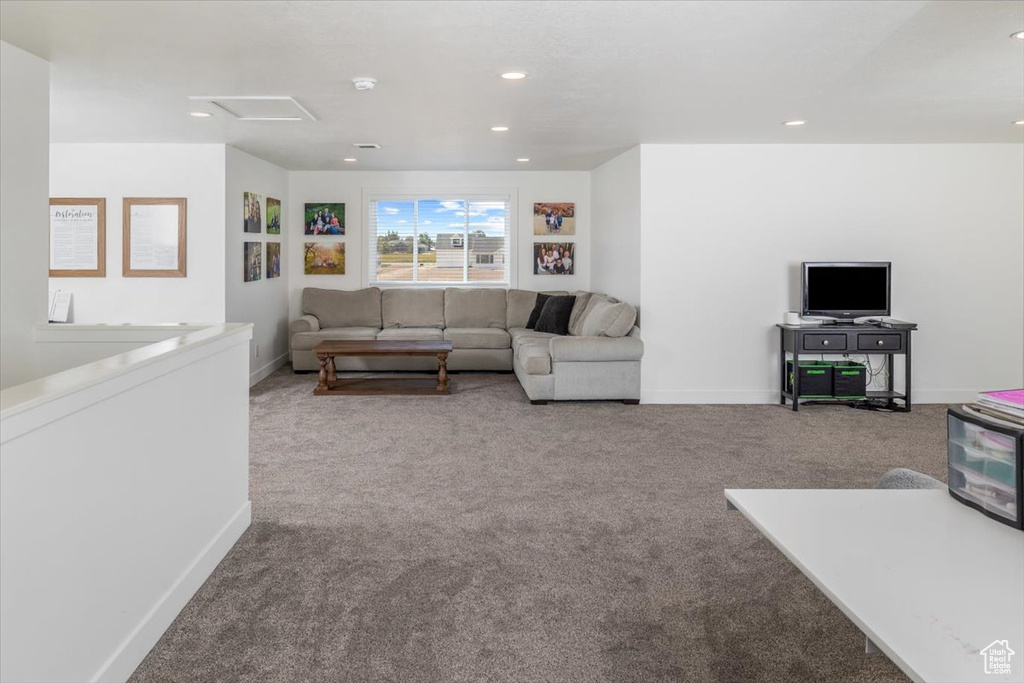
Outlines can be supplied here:
M381 289L387 288L413 288L413 289L432 289L432 288L447 288L447 287L460 287L460 288L495 288L495 289L515 289L518 286L518 247L517 247L517 233L518 233L518 201L517 191L515 188L510 187L495 187L495 188L473 188L473 189L462 189L462 188L443 188L443 189L388 189L388 188L364 188L362 190L362 224L365 229L361 230L364 240L366 244L362 245L362 286L364 287L379 287ZM464 201L467 203L471 202L505 202L507 209L507 225L506 225L506 279L502 282L418 282L418 281L403 281L403 282L379 282L376 281L377 276L377 263L379 254L376 253L377 249L377 226L374 225L375 230L371 231L371 212L374 203L376 202L418 202L423 200L430 201ZM417 225L413 233L413 243L418 244L419 242L419 205L415 210L417 215ZM468 226L466 233L468 236ZM468 279L469 271L469 250L468 245L466 246L466 263L463 265L464 278ZM419 263L419 253L414 249L413 261L418 265Z

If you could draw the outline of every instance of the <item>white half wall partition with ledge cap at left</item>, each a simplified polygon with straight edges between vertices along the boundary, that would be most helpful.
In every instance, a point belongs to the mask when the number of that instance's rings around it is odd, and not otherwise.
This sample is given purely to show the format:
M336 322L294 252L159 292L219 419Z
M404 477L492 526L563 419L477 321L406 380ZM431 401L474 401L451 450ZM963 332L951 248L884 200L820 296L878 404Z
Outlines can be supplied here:
M127 680L249 526L251 338L0 392L0 680Z

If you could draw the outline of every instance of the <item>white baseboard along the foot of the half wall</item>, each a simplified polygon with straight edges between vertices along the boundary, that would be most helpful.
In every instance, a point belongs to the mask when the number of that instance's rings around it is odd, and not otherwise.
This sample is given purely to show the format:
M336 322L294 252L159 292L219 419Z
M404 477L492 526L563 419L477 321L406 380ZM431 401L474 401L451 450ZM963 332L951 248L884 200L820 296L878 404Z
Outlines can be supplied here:
M227 551L249 528L251 522L252 504L246 501L246 504L214 536L171 588L157 600L153 609L142 617L134 631L103 663L103 666L99 668L91 680L103 683L127 681L135 668L142 663L145 655L150 653L153 646L171 626L171 622L196 595L196 591L200 589L203 582L210 578L220 560L227 555Z

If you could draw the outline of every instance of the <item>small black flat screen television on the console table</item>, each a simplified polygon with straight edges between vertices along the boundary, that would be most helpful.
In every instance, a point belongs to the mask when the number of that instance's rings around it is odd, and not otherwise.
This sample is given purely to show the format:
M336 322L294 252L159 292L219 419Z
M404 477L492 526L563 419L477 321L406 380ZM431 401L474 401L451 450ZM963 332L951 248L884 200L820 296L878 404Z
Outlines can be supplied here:
M802 315L842 321L890 314L889 261L805 262Z

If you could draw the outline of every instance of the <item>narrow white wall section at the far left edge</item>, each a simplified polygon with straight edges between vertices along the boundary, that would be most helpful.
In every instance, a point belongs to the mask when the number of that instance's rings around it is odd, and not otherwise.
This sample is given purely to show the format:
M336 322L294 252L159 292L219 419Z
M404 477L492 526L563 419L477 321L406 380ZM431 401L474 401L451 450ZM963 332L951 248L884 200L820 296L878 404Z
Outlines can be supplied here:
M0 388L37 377L46 323L49 68L0 42Z

